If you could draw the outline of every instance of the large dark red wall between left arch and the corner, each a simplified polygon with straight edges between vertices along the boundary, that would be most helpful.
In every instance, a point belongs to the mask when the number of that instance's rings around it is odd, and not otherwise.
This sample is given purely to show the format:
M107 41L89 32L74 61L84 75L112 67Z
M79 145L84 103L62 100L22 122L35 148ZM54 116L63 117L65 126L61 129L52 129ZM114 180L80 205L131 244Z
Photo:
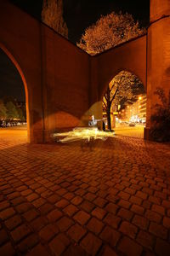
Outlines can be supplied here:
M0 2L0 44L26 79L31 143L75 126L88 110L89 56L7 1Z

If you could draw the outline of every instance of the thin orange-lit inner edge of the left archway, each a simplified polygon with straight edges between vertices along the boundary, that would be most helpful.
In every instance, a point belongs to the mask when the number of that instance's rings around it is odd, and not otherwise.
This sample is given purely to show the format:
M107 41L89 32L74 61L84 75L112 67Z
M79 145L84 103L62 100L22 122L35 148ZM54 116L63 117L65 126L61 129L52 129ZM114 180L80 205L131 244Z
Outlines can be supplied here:
M29 92L28 92L28 87L26 84L26 78L24 73L22 72L22 69L18 63L18 61L16 61L16 59L14 58L14 55L12 55L8 49L0 43L0 49L3 50L3 52L8 56L8 58L10 59L10 61L12 61L12 63L14 64L14 67L16 67L17 71L20 74L20 78L22 79L22 82L24 84L24 88L25 88L25 96L26 96L26 120L27 120L27 142L30 143L31 142L31 137L30 137L30 113L29 113Z

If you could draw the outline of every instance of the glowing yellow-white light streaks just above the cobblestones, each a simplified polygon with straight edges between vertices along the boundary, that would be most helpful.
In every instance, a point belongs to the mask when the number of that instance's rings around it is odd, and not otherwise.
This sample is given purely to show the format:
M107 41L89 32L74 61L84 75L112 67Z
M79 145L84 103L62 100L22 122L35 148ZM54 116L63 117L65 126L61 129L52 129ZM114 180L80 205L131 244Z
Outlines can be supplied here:
M113 131L99 131L96 127L83 128L77 127L72 131L63 132L63 133L54 133L53 137L58 138L62 137L58 140L60 143L71 143L76 141L85 140L90 142L91 140L103 140L105 141L108 137L114 137L115 133Z

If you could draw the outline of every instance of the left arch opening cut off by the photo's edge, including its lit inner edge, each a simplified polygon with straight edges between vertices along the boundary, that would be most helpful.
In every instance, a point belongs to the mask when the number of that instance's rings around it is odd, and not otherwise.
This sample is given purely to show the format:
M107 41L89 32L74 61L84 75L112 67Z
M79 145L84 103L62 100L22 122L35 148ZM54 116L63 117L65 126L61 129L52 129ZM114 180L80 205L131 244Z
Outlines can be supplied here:
M14 56L0 44L0 124L6 137L30 143L28 89L24 73ZM23 142L23 140L22 140Z

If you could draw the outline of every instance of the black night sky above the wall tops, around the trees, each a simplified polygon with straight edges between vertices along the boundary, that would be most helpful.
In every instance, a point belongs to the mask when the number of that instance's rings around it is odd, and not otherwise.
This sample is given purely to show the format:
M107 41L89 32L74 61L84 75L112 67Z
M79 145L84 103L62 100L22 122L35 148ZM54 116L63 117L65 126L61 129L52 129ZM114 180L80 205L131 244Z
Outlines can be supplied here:
M41 19L43 0L11 0L38 20ZM76 44L86 27L101 15L112 11L128 12L141 26L149 25L150 0L63 0L64 19L69 30L69 39Z

